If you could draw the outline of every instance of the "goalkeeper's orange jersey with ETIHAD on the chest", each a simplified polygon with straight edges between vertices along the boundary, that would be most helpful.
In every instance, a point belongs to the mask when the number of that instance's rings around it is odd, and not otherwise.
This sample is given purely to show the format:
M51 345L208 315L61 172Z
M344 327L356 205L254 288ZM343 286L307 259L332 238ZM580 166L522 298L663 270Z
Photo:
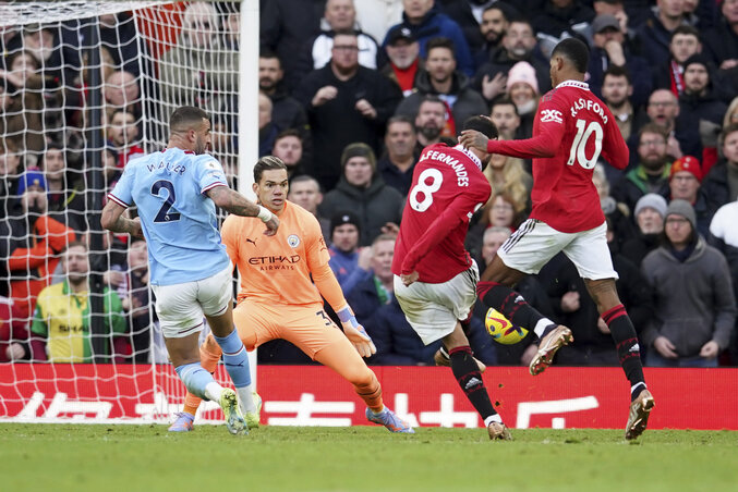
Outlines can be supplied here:
M330 259L317 219L287 200L277 217L274 236L265 235L266 225L255 218L230 214L223 222L222 242L241 274L238 300L323 304L310 276Z

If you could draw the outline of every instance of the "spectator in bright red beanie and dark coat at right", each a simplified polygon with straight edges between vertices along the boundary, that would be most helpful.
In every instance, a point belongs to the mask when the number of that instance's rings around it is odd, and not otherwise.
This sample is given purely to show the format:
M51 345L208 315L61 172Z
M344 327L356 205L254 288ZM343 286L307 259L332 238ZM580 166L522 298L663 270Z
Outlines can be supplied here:
M701 189L702 170L700 161L692 156L685 156L672 163L669 171L669 199L687 200L694 209L697 231L707 237L710 221L714 210L710 209L707 197Z

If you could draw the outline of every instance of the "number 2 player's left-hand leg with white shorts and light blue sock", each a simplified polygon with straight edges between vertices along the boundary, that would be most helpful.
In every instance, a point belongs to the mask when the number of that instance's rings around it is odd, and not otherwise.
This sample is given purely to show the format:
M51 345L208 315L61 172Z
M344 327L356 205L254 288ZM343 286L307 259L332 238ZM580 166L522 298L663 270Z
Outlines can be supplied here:
M230 417L227 427L231 433L245 431L245 422L238 409L235 392L222 388L199 364L197 339L203 330L203 310L196 302L196 283L154 286L165 344L178 376L192 394L220 404ZM190 430L192 425L179 430Z

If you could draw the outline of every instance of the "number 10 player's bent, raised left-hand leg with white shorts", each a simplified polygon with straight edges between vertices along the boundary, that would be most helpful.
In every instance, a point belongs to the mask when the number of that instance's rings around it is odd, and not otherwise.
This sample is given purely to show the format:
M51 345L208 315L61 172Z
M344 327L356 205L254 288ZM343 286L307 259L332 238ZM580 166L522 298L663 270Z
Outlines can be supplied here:
M485 306L494 307L513 324L532 329L537 335L539 350L530 364L533 376L543 372L552 364L556 352L571 343L573 336L567 327L557 325L529 305L512 286L527 274L537 273L572 237L544 222L527 220L500 246L476 286L479 298Z

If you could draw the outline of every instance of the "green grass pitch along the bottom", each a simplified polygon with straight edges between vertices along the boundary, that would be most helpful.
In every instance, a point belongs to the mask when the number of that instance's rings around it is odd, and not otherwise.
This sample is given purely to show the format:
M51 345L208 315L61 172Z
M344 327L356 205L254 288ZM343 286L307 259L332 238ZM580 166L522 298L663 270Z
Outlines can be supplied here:
M737 491L738 432L0 425L3 491Z

